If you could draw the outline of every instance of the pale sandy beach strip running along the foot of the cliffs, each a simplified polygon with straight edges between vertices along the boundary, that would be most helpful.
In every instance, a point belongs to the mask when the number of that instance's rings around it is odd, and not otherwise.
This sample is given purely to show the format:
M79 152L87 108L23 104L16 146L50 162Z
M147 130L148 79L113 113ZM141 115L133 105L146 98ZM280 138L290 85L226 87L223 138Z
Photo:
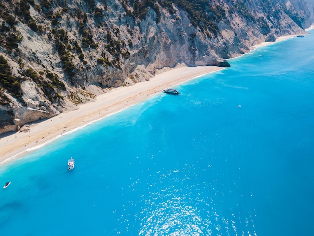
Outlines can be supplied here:
M312 28L314 26L309 29ZM276 42L290 37L295 35L279 37ZM271 43L274 42L262 43L252 49ZM149 81L112 89L97 96L95 102L80 105L77 110L62 113L40 123L29 124L28 132L17 132L0 139L0 165L14 161L61 135L147 99L168 87L222 69L216 66L178 67L155 75Z

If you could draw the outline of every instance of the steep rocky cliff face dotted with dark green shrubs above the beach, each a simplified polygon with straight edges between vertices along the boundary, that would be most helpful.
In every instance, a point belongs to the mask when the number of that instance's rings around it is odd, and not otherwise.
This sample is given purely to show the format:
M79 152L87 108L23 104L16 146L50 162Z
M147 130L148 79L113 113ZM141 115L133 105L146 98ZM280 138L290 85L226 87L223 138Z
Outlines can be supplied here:
M164 67L228 66L254 44L305 34L313 22L312 5L298 0L0 2L0 133ZM191 11L194 2L204 8Z

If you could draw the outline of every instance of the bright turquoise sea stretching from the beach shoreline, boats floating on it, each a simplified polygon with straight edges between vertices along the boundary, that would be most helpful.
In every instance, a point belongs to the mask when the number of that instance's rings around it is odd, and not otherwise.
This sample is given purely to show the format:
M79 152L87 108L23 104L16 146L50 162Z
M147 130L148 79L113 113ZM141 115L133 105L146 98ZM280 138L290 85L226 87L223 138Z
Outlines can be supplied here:
M312 235L309 33L0 167L0 235Z

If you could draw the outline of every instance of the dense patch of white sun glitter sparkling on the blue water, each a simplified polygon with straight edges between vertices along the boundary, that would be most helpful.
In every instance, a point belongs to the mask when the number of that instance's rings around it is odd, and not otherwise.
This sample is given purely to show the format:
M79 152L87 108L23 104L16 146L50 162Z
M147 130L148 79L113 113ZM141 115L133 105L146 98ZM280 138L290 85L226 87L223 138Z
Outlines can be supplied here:
M198 183L197 176L190 174L192 169L197 172L195 166L186 165L180 171L155 176L158 184L146 182L148 192L143 193L139 201L130 202L132 207L142 206L134 216L135 224L139 224L136 228L140 228L138 235L251 235L236 225L244 221L246 229L251 229L254 217L250 214L246 218L237 216L231 209L226 213L219 200L224 193L216 189L217 181ZM131 212L132 207L126 207L125 213ZM122 215L120 226L127 224L129 228L130 218L132 215ZM252 235L256 235L255 232Z

